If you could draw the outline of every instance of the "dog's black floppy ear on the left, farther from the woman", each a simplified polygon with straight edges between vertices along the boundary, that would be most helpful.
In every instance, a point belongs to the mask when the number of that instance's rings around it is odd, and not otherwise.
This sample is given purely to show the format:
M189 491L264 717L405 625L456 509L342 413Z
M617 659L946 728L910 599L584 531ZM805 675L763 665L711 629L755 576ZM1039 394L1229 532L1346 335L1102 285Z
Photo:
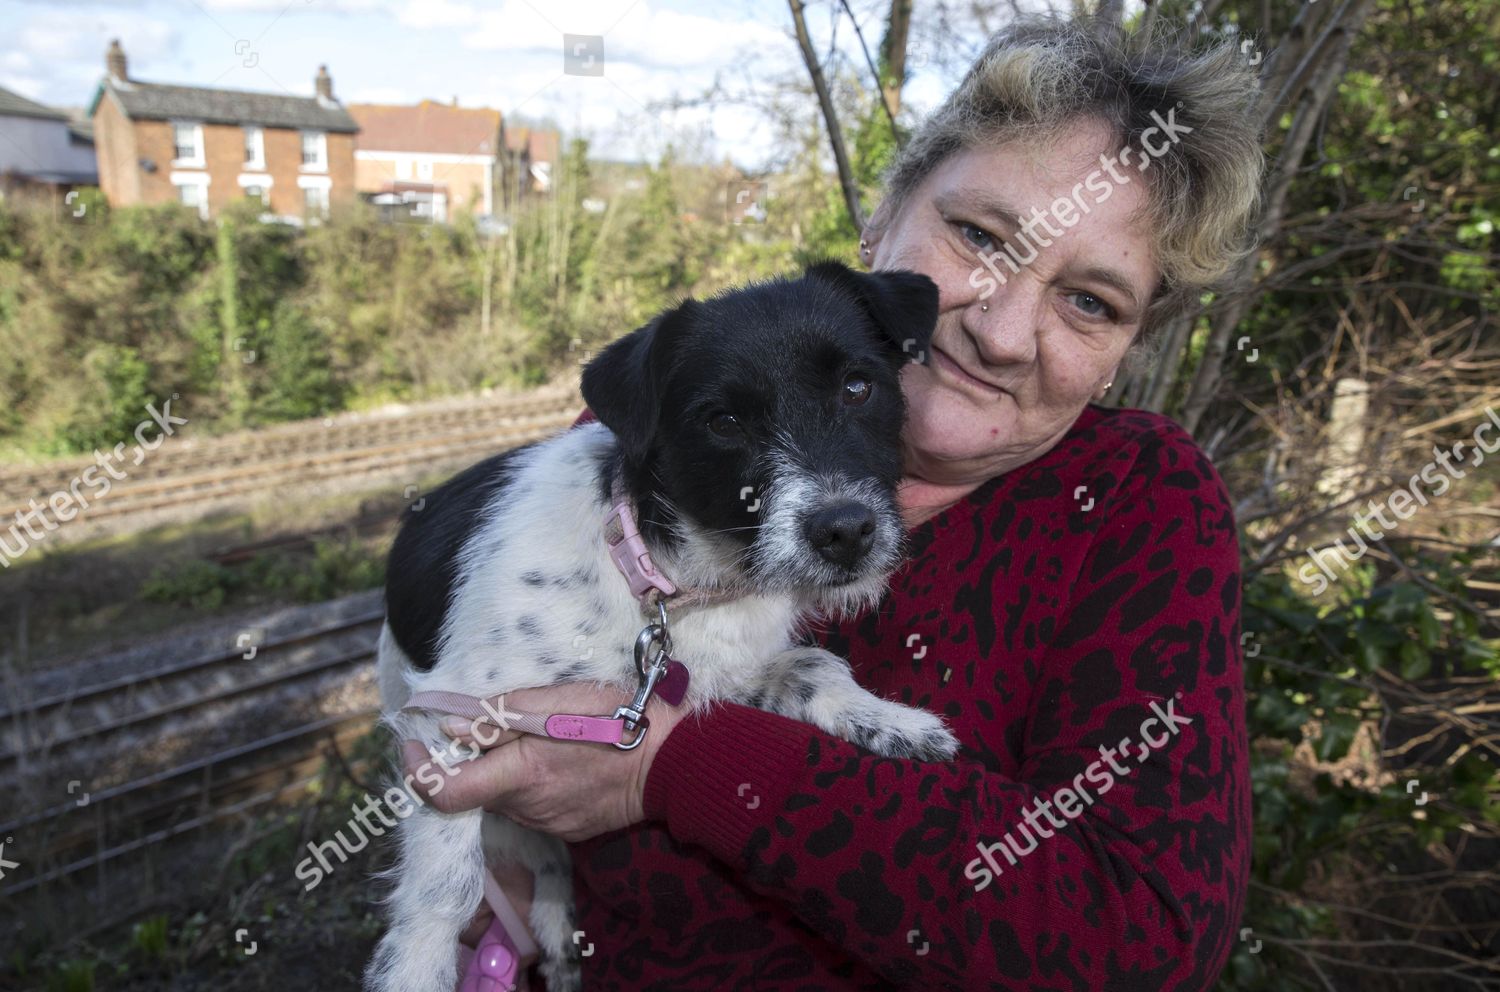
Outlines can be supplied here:
M670 339L680 336L696 306L694 300L684 300L658 314L584 366L584 402L620 438L630 461L640 461L651 447L662 413Z

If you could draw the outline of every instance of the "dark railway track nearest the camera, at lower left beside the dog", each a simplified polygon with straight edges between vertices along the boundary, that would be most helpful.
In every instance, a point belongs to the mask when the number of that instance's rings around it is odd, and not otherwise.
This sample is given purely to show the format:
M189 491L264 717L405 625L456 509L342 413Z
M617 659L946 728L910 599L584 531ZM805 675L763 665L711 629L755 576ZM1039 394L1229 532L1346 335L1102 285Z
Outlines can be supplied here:
M225 630L232 650L16 693L0 711L0 776L15 783L0 840L16 867L0 906L63 905L98 926L196 884L183 867L222 855L216 827L304 797L374 725L375 606L360 594L254 645Z

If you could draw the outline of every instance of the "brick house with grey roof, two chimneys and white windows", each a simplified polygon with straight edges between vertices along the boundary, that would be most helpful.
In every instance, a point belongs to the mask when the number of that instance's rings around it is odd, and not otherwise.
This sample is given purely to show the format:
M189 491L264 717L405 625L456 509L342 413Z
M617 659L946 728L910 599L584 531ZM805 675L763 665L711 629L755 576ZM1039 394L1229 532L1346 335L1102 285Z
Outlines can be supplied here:
M358 125L333 98L327 66L314 96L142 83L118 41L105 66L88 117L111 206L178 201L208 218L254 197L300 219L354 201Z

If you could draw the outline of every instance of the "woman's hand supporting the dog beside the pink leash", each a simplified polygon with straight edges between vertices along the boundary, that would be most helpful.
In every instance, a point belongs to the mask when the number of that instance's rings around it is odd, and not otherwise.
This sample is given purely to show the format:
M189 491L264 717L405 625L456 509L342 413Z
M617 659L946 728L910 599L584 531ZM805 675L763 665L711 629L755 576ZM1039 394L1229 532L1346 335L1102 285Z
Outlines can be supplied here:
M568 683L543 689L507 692L504 707L531 713L612 714L628 702L620 689L592 683ZM412 788L435 809L454 813L484 809L501 813L522 827L531 827L568 842L588 840L610 830L621 830L645 819L642 797L646 774L662 741L682 719L682 713L662 699L646 705L651 728L634 750L609 744L554 740L501 731L482 725L480 740L464 717L448 717L444 729L458 741L472 741L488 752L456 765L452 774L440 770L418 777L422 765L438 765L417 741L402 741L402 758ZM452 729L448 729L452 728ZM429 788L441 776L442 785Z

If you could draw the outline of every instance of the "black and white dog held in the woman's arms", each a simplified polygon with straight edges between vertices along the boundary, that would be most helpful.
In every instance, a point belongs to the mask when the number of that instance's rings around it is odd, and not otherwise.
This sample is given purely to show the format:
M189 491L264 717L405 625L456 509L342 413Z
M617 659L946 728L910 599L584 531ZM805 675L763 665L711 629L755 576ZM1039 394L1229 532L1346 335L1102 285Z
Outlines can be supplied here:
M822 263L687 300L609 345L582 380L600 423L480 462L406 513L378 654L398 738L450 743L440 714L402 711L417 692L597 681L630 698L648 617L606 546L622 482L660 572L711 593L668 600L672 656L692 677L682 705L744 702L882 755L952 756L934 714L872 695L843 659L800 644L810 618L876 603L902 558L900 369L926 356L936 315L926 276ZM399 836L366 989L453 992L486 858L532 870L542 974L552 992L579 987L562 842L430 806Z

